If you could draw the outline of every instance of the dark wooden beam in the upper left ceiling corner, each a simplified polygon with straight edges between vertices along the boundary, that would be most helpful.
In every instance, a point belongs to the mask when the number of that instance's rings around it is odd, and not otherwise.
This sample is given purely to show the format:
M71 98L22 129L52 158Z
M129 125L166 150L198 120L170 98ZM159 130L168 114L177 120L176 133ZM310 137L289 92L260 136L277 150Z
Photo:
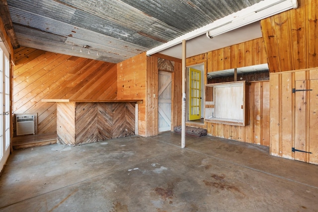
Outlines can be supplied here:
M4 29L10 38L13 49L19 48L20 45L13 29L8 3L6 0L0 0L0 18L2 19Z

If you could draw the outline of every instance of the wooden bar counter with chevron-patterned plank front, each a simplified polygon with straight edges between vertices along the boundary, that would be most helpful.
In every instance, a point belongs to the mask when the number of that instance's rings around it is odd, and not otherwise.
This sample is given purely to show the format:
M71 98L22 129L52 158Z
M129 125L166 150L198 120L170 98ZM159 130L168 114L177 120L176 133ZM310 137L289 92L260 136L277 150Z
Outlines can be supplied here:
M142 100L42 99L57 103L57 143L81 145L135 135ZM137 117L137 118L136 118Z

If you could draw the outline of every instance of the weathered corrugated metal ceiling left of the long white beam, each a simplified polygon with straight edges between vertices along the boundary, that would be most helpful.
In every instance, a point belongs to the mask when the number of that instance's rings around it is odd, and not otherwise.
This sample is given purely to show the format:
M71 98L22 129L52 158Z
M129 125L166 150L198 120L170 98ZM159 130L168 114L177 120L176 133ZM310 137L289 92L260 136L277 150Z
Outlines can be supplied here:
M118 63L261 0L7 0L18 44Z

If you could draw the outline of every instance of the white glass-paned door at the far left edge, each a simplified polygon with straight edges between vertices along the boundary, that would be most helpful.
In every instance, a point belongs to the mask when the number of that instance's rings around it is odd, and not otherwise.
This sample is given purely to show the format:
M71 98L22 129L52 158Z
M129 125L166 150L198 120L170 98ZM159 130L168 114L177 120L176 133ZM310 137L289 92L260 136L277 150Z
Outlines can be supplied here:
M3 42L0 42L0 169L9 157L10 153L10 64L9 53Z

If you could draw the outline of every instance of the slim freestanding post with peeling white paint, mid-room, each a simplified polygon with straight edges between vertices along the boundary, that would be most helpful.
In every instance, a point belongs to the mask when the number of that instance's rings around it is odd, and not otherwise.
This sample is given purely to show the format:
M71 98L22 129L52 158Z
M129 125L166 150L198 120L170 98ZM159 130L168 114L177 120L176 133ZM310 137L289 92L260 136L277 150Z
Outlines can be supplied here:
M181 148L185 147L185 108L186 108L186 94L185 94L185 84L186 84L186 41L182 40L182 114L181 114Z

